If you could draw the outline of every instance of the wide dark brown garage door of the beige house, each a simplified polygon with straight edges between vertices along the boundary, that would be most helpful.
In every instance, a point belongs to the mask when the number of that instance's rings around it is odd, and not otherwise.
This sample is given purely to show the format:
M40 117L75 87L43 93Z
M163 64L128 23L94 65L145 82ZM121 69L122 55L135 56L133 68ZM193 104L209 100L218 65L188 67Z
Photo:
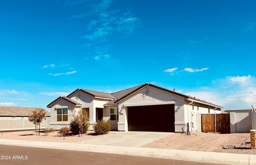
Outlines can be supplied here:
M128 131L174 132L174 104L127 108Z

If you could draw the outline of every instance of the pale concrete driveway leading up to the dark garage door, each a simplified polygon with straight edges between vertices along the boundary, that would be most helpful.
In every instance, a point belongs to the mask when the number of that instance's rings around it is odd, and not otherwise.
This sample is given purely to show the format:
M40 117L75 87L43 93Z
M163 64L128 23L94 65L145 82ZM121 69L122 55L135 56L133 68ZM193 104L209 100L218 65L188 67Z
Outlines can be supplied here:
M82 141L84 144L141 147L173 132L109 132L108 136Z

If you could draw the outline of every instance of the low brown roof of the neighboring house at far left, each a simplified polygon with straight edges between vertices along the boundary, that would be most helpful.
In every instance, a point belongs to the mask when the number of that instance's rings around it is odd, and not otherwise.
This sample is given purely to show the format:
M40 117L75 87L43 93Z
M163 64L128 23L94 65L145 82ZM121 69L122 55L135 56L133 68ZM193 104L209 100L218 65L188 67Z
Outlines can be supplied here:
M29 116L36 109L32 107L0 106L0 116ZM50 116L50 112L46 111L46 116Z

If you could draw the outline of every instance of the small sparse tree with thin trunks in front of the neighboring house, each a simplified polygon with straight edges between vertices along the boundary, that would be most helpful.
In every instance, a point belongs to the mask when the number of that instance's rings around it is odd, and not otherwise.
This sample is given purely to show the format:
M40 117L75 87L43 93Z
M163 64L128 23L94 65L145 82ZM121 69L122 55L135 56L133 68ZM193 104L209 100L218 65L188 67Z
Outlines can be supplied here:
M36 128L36 135L40 135L40 123L46 119L46 110L43 108L37 108L36 110L32 111L32 114L28 116L28 120L35 124ZM39 127L39 129L38 129Z

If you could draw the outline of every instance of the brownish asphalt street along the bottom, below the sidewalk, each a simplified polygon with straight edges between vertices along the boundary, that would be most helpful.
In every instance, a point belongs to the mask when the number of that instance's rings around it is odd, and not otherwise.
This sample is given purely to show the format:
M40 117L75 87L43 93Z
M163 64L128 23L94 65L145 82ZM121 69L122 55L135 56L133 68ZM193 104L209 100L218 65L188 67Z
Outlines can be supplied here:
M37 147L21 147L14 145L0 145L0 165L217 165L212 163L199 163L117 155L108 153L95 153L84 151L70 151L62 149L48 149Z

